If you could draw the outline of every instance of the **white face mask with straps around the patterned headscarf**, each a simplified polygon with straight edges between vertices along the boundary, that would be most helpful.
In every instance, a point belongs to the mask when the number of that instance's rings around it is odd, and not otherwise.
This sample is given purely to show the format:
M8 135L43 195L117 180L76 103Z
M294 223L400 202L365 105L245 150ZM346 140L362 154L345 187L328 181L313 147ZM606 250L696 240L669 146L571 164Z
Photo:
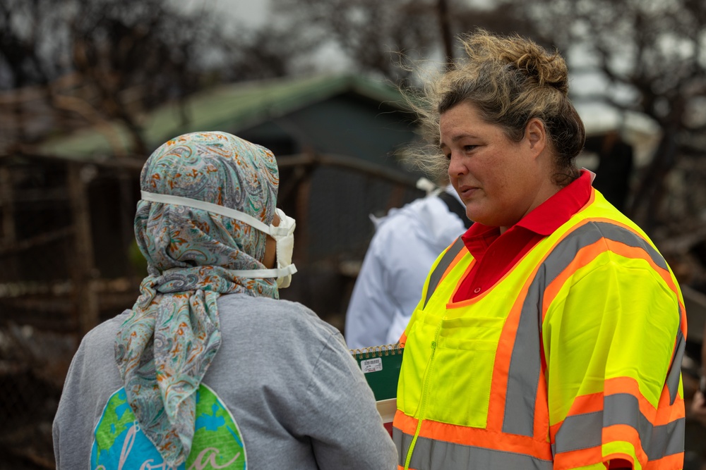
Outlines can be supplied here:
M292 282L292 274L297 272L297 268L292 264L292 252L294 251L294 228L297 223L293 218L285 215L282 209L275 209L277 215L280 216L280 225L265 225L262 221L254 218L249 214L230 209L229 207L219 206L210 202L198 201L197 199L189 199L188 197L170 196L167 194L155 194L153 192L142 191L142 199L150 202L162 202L163 204L174 204L177 206L186 206L193 209L202 209L204 211L213 212L220 216L234 218L237 221L247 223L253 228L267 233L273 237L276 242L277 253L277 268L275 269L239 269L232 271L241 278L277 278L277 287L289 287Z

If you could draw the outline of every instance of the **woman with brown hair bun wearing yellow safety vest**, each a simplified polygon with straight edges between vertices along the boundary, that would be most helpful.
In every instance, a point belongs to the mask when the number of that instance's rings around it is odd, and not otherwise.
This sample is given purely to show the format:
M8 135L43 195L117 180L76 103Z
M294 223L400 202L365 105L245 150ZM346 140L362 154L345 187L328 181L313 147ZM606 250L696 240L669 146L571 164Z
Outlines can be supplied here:
M674 273L575 158L558 53L462 37L414 98L475 221L400 342L400 469L681 469L686 311ZM421 103L421 104L420 104Z

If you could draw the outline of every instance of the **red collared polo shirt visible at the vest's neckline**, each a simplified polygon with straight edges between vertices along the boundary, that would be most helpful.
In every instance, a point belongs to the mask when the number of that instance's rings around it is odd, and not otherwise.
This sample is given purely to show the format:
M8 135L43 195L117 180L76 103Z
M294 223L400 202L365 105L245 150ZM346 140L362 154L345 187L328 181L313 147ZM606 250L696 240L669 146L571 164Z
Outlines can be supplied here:
M474 223L461 235L476 262L453 296L454 302L472 299L498 282L539 240L576 214L591 196L593 173L581 175L501 235L500 228Z

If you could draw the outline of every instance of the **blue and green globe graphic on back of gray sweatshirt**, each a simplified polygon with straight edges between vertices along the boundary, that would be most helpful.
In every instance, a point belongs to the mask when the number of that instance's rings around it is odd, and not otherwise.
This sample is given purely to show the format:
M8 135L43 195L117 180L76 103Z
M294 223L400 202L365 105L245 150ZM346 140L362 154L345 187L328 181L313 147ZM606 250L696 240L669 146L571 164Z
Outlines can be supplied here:
M108 400L91 450L92 470L170 470L140 425L121 388ZM196 426L186 462L174 470L246 469L245 446L228 409L208 386L196 392Z

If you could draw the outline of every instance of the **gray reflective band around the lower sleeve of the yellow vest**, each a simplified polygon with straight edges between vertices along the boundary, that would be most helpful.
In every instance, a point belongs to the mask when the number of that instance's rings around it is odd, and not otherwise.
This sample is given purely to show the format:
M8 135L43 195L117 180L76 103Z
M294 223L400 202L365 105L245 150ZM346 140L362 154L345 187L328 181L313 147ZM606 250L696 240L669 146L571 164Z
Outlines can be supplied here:
M647 459L657 460L684 452L685 420L652 426L640 412L637 397L616 393L604 398L604 411L568 416L556 433L554 452L571 452L601 445L602 429L625 424L638 431Z

